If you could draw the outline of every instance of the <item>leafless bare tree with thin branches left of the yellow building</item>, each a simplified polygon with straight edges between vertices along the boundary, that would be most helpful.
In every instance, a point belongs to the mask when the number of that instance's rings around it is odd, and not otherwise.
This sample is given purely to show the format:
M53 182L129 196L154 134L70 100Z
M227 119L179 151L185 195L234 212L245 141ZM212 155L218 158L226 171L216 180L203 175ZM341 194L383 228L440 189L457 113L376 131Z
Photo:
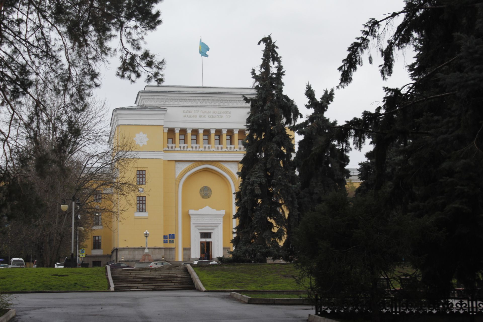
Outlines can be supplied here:
M91 99L83 111L73 113L75 102L52 91L45 94L45 113L25 99L16 111L28 122L3 123L16 127L9 157L0 166L0 241L11 251L34 250L39 266L53 266L59 256L70 254L71 212L60 210L60 203L76 201L82 237L96 223L96 213L103 214L107 227L122 216L129 205L116 204L115 211L113 205L117 199L129 200L124 197L138 186L134 178L118 175L136 162L129 153L133 144L122 139L108 143L103 103Z

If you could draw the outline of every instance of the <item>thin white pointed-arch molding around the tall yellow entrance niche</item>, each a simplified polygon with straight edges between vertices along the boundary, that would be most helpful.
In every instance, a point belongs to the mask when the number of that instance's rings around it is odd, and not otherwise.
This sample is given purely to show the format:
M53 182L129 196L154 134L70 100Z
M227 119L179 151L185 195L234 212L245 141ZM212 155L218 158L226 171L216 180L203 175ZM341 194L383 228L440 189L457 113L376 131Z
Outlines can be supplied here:
M196 168L192 168L191 170L189 170L188 172L185 173L185 175L181 178L180 180L180 183L178 185L178 243L176 244L176 247L178 248L178 261L182 261L183 260L183 205L182 205L182 201L183 201L183 183L185 183L185 180L190 176L192 175L193 173L201 170L201 169L212 169L218 173L220 173L221 175L223 175L228 183L230 184L230 188L231 188L231 213L232 215L235 214L235 184L233 182L233 180L231 180L231 177L225 172L223 171L222 169L220 168L217 168L217 167L214 167L210 164L203 164L203 165L200 165ZM224 211L224 210L223 210ZM231 230L233 231L234 230L234 227L236 226L236 219L233 219L232 220L232 227L231 227ZM222 241L223 242L223 241ZM222 252L223 254L223 252Z

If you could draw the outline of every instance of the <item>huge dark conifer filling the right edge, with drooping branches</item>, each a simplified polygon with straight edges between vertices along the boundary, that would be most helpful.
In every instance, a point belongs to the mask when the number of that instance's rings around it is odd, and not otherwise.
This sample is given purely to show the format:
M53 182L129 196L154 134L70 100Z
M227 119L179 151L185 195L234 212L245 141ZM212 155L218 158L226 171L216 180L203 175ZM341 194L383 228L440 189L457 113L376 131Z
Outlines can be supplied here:
M402 11L369 20L339 68L341 87L370 42L380 46L383 79L393 72L396 50L416 54L410 84L385 88L375 112L340 126L344 140L374 145L363 165L365 192L419 223L412 264L432 293L447 295L453 279L472 289L483 273L483 2L408 0Z

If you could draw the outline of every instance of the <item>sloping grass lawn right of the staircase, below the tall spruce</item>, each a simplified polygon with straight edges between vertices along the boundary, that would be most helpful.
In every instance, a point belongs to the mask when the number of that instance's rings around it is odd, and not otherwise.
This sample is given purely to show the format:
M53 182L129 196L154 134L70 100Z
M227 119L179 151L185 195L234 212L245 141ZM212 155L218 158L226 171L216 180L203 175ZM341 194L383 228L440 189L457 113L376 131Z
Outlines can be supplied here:
M304 290L293 264L193 266L207 290Z

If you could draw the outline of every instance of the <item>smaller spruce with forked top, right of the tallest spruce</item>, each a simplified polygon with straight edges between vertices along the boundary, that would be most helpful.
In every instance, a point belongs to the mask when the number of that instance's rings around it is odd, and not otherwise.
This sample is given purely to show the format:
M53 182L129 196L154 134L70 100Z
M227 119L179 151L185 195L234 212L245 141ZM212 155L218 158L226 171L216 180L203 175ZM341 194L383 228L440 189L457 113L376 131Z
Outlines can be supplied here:
M303 139L298 142L297 154L294 158L298 170L300 190L298 192L298 216L290 216L287 223L287 238L284 248L287 259L295 255L296 243L293 232L300 224L303 215L313 211L322 202L322 198L334 191L345 191L345 179L349 171L345 169L349 163L343 147L335 142L339 129L334 128L336 121L330 121L326 116L329 104L334 100L334 89L325 90L318 100L310 84L307 84L305 96L308 99L306 108L313 110L312 114L293 128Z

